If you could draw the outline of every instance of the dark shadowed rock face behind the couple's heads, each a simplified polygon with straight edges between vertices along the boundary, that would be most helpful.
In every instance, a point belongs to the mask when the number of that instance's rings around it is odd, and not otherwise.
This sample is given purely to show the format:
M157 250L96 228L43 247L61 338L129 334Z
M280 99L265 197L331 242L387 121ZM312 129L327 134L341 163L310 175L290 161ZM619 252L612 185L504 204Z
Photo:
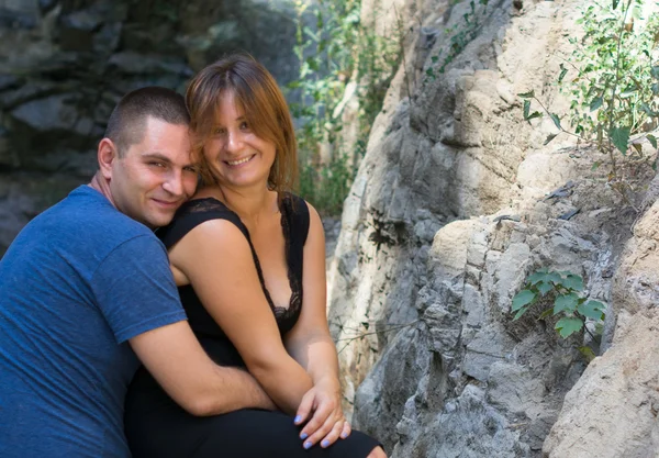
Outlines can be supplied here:
M298 76L295 10L282 0L0 0L0 255L20 228L96 170L120 97L179 91L248 51L280 83Z

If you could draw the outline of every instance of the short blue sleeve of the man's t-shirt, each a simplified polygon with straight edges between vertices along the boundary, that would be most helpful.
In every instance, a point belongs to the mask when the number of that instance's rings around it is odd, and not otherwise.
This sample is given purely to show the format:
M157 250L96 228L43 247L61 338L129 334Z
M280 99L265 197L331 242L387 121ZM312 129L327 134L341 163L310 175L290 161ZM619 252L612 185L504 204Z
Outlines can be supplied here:
M119 344L186 320L165 247L150 234L114 248L99 265L91 284Z

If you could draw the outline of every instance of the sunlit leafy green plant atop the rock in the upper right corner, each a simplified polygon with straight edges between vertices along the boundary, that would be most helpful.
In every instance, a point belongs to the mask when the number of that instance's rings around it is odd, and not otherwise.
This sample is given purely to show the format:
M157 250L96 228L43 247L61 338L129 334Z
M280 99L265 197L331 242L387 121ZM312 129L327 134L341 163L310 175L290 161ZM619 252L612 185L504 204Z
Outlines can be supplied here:
M632 154L644 159L643 139L657 148L651 132L659 124L659 14L641 18L643 4L643 0L583 3L577 21L583 27L583 36L570 38L574 51L560 64L558 75L561 91L569 94L571 102L569 131L534 91L518 94L524 99L524 120L546 113L554 121L558 132L549 135L545 144L561 133L596 142L599 149L610 156L608 179L614 189L625 185L619 176L618 154L622 159L629 159ZM540 111L532 111L534 101ZM593 169L599 166L597 163Z

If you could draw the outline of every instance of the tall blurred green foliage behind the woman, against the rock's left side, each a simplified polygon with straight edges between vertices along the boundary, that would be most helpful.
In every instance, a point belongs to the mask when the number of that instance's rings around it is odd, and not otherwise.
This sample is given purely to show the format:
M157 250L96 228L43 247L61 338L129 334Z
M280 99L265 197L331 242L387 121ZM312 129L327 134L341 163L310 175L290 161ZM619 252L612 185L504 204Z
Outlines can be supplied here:
M300 93L291 111L298 129L300 193L322 213L340 213L357 166L366 150L370 126L381 109L389 78L399 64L396 38L384 38L360 21L360 0L331 0L320 7L297 2L298 32L294 48L300 78L288 86ZM313 8L313 10L312 10ZM313 14L315 27L304 25ZM356 150L342 150L342 119L337 112L346 85L358 83L359 132ZM332 150L321 157L321 148ZM327 163L328 159L328 163Z

